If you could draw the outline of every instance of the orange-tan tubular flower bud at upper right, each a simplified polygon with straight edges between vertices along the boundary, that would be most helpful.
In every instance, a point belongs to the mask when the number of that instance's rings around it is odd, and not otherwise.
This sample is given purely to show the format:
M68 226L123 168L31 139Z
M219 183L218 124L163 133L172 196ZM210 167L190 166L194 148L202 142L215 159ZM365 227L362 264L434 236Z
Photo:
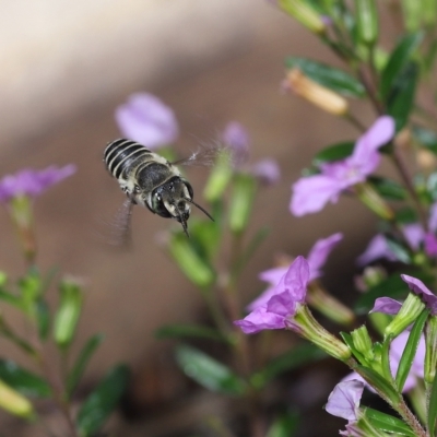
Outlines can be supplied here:
M328 113L336 116L344 116L347 114L347 102L340 94L307 78L299 69L295 68L288 71L285 85L297 95Z

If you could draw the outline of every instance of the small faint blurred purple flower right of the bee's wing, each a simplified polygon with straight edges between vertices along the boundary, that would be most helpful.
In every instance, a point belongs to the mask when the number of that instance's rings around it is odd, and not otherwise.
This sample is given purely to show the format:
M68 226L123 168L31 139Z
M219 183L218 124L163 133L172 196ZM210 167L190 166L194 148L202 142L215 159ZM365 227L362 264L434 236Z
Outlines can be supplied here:
M260 182L273 185L280 180L281 172L276 161L264 158L248 164L250 155L250 138L247 130L237 121L231 121L223 131L222 139L233 152L235 168L245 169L252 174Z

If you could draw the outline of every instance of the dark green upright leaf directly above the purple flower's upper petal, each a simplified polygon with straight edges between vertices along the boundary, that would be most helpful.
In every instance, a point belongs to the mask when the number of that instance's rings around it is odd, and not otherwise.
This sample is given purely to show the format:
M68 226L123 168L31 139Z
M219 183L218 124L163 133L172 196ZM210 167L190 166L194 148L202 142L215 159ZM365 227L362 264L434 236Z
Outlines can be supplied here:
M418 64L410 62L395 79L386 99L387 114L394 118L397 132L406 125L413 108L418 73Z

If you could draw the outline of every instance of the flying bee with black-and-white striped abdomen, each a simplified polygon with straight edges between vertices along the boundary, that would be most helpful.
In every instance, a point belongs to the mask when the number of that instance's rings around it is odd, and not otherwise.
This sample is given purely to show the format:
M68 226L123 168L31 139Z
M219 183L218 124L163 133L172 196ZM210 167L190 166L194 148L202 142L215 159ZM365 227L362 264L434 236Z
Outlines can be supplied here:
M170 163L132 140L119 139L108 143L104 162L128 198L121 212L125 215L123 227L129 228L132 206L135 204L147 208L162 217L175 218L182 225L188 237L187 222L191 214L191 205L213 221L213 217L192 200L192 187L177 168L177 165L196 162L198 155L194 153L187 160Z

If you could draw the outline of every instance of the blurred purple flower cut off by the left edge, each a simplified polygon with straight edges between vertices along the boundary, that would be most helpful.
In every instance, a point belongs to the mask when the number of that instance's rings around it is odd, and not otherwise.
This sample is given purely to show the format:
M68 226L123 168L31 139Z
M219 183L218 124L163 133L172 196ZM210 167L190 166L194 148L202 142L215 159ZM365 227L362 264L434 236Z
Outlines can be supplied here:
M25 168L14 175L4 176L0 180L0 202L9 202L20 196L37 197L74 172L75 166L70 164L61 168L50 166L44 170Z

